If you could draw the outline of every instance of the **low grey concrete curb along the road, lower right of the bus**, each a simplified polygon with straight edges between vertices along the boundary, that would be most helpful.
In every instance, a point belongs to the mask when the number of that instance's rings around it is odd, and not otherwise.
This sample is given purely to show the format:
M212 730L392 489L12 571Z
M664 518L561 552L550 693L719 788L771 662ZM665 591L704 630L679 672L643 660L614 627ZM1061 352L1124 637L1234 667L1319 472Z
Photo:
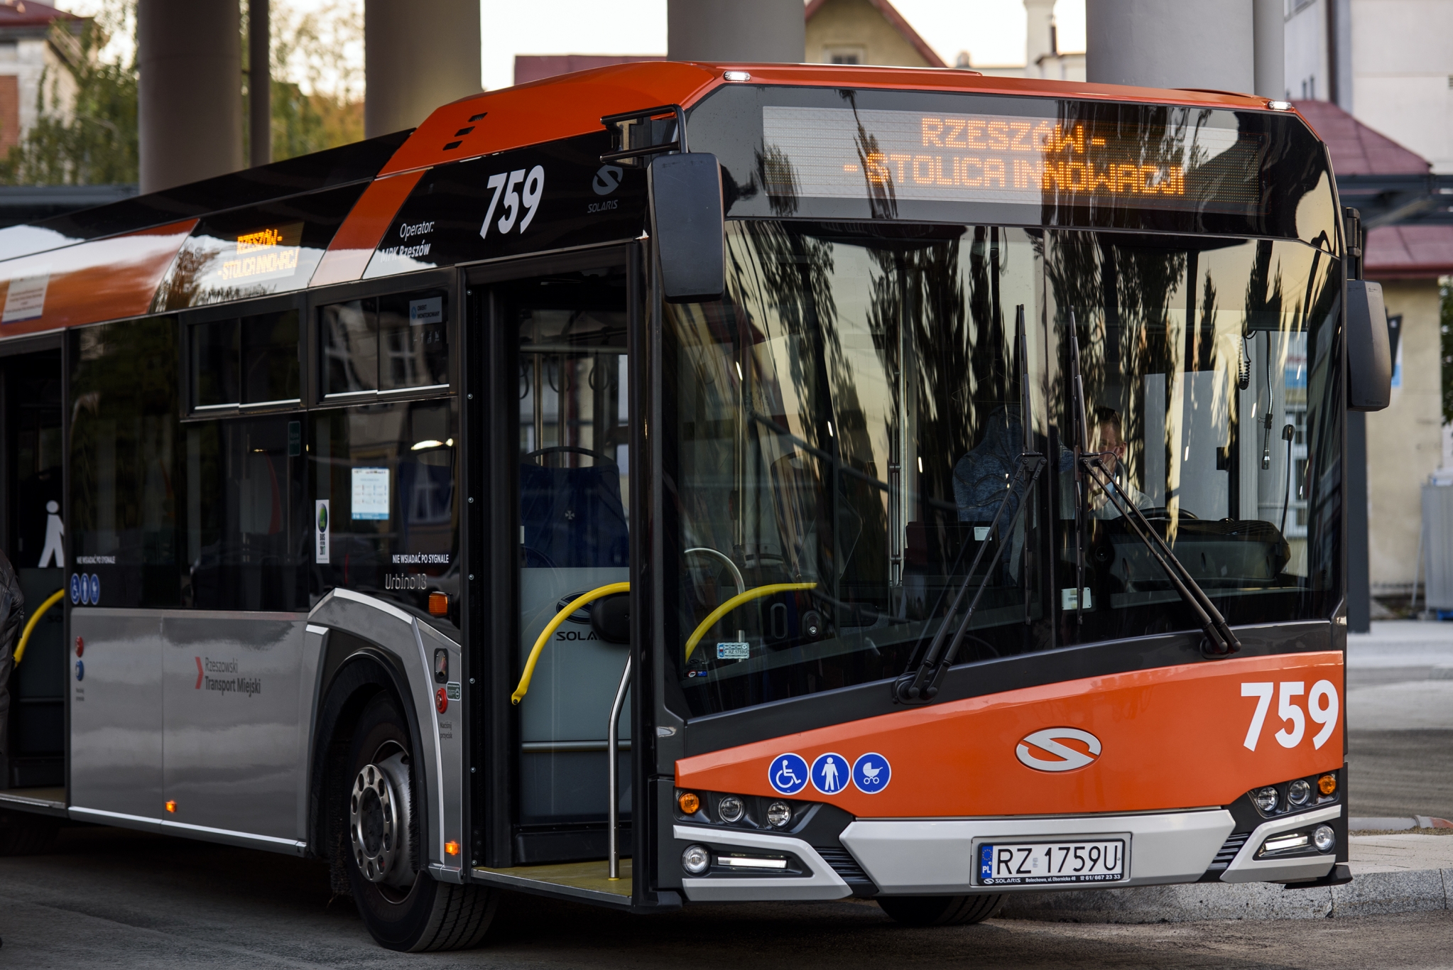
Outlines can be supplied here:
M1132 889L1013 893L1004 919L1159 924L1194 919L1331 919L1450 909L1453 868L1366 873L1345 886L1191 883Z

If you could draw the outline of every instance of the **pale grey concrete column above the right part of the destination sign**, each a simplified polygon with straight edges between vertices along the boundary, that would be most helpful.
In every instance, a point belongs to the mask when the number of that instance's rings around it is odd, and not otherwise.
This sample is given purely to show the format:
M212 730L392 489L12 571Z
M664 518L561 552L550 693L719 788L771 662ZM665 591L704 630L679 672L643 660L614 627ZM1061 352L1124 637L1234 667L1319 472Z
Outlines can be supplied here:
M1085 80L1252 91L1251 0L1085 0Z

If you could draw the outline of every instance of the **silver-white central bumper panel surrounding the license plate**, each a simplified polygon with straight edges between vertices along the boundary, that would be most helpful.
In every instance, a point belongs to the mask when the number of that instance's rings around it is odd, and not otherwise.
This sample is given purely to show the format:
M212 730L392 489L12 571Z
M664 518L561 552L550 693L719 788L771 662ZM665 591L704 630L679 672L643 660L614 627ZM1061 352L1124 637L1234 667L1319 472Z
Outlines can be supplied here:
M883 896L1114 889L1194 883L1235 822L1225 809L1013 819L860 819L841 841ZM1129 879L1114 883L981 886L975 842L1126 838Z

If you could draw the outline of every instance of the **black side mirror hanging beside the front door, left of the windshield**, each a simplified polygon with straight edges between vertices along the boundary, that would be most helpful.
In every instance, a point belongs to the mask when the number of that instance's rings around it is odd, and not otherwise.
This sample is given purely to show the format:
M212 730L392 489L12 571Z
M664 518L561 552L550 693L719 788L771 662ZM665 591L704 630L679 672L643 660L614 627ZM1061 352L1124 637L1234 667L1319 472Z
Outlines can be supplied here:
M658 155L647 168L647 189L665 302L721 299L726 289L726 216L716 155Z

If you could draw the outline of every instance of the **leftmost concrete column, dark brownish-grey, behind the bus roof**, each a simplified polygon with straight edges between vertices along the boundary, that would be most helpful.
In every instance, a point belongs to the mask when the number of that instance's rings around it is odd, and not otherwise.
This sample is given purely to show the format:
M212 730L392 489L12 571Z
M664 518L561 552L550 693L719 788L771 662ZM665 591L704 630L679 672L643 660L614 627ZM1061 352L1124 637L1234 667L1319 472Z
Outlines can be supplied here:
M237 0L141 0L137 67L141 190L243 167Z

